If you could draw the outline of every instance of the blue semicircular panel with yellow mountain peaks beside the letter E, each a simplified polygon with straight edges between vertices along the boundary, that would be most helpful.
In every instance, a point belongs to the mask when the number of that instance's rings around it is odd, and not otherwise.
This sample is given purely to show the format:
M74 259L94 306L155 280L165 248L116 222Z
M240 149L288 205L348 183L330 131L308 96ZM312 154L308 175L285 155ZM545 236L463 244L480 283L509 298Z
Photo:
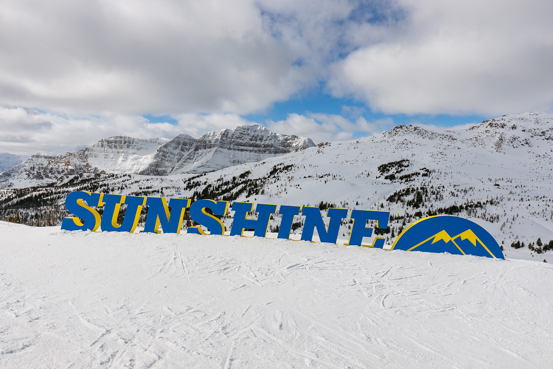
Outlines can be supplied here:
M414 222L401 232L392 250L505 258L488 231L468 219L451 215L429 216Z

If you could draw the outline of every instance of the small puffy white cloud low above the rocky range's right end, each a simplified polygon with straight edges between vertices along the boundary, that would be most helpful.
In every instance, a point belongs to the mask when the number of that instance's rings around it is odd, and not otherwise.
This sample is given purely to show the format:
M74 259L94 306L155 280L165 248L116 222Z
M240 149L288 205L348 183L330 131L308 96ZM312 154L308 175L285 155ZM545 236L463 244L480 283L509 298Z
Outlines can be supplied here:
M309 137L315 143L327 141L347 141L357 137L370 136L392 128L392 118L377 119L367 122L358 117L354 122L339 115L324 113L309 113L307 116L291 113L285 121L265 122L271 131L284 134L296 134Z

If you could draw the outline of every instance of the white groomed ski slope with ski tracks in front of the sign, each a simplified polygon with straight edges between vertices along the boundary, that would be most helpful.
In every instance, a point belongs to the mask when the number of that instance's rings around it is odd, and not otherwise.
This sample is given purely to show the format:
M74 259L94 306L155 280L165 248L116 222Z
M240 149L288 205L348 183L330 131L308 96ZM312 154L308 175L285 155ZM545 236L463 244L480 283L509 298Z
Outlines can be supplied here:
M550 368L553 266L0 224L6 368Z

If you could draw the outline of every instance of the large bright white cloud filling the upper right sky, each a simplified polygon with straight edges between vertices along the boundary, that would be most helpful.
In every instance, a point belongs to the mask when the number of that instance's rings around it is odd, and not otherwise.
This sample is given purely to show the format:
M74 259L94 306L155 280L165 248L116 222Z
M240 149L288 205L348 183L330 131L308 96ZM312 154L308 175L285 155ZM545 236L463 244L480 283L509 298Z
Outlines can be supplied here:
M553 2L400 0L394 32L334 66L337 96L385 113L553 108Z

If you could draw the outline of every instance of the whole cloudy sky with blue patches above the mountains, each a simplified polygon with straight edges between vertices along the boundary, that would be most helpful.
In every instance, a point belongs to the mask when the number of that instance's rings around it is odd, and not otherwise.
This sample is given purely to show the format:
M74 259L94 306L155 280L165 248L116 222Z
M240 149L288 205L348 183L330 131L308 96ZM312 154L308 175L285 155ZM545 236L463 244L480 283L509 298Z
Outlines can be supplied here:
M553 111L549 0L0 0L0 153Z

